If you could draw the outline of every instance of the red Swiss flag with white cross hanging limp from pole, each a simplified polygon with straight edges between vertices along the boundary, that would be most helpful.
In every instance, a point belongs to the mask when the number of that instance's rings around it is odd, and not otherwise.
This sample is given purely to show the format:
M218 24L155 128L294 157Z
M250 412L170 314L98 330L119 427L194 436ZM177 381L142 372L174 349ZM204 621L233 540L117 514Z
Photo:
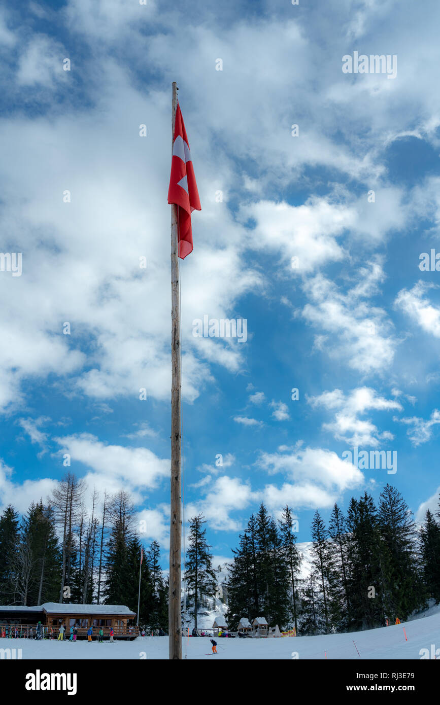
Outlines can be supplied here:
M171 158L171 177L168 202L178 206L179 257L185 259L193 252L193 231L191 213L200 211L199 192L195 183L190 145L186 136L185 125L180 106L177 104L176 124L174 126L173 156Z

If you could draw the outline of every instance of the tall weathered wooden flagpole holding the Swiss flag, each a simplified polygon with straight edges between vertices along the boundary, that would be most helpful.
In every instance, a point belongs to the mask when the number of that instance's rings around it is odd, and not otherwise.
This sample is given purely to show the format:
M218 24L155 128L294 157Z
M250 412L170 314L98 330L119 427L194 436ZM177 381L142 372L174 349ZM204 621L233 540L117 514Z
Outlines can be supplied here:
M173 82L171 154L176 123ZM169 658L182 658L181 615L181 320L178 281L178 206L171 204L171 530L169 572Z

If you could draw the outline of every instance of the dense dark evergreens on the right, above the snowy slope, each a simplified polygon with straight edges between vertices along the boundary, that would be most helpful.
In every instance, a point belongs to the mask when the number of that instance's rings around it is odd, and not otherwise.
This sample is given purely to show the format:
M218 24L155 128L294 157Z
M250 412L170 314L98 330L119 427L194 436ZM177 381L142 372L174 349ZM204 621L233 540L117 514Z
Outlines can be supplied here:
M351 498L346 515L335 504L327 526L314 513L307 577L294 528L288 506L278 521L263 503L252 514L229 568L228 627L264 616L298 635L356 631L440 602L440 510L427 510L417 530L390 484L378 505L367 492Z

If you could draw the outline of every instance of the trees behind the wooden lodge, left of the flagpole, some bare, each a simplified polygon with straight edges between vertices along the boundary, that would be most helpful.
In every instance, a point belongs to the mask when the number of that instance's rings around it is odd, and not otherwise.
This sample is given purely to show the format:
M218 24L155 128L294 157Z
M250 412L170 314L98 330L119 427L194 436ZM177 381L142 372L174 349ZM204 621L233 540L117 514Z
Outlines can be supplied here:
M32 502L20 520L12 505L0 515L0 604L116 604L138 611L140 625L167 630L168 585L152 541L140 565L135 509L127 492L86 509L85 484L69 473L48 501Z

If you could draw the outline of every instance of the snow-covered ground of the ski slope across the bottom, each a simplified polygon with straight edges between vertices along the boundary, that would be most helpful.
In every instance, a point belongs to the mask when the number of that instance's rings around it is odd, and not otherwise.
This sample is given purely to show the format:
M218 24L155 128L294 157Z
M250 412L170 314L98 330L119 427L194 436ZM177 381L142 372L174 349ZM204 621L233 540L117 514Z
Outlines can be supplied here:
M281 639L216 639L216 656L206 637L185 639L183 654L188 659L419 659L420 650L429 654L439 649L440 607L431 608L427 617L405 624L382 627L351 634L320 635L317 637L282 637ZM408 641L403 633L405 627ZM355 644L353 644L353 640ZM360 653L357 654L355 645ZM35 642L27 639L0 639L0 649L22 649L21 657L31 659L158 659L168 658L168 637L139 637L133 642ZM298 656L292 656L292 653Z

